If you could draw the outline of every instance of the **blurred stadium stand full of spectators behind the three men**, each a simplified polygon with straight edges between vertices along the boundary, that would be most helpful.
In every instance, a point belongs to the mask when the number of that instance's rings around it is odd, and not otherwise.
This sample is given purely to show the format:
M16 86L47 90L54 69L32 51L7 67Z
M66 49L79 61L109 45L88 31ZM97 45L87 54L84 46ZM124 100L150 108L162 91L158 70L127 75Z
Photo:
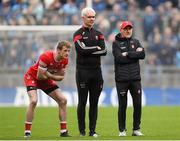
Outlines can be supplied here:
M81 25L84 0L0 0L0 25ZM103 57L105 87L114 87L111 53L114 35L122 20L134 23L134 36L146 49L142 61L143 87L179 88L179 0L93 0L95 27L105 34L108 55ZM23 73L39 54L58 40L72 41L72 32L1 31L0 87L23 86ZM75 87L75 50L61 87Z

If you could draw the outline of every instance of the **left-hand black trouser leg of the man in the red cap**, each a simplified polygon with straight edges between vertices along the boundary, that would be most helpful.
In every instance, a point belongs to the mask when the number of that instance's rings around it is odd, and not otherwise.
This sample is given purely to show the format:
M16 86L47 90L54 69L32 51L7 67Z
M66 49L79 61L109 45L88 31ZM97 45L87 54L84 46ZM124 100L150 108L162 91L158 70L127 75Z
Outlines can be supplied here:
M126 109L127 109L127 91L128 82L116 82L116 89L118 94L118 126L119 131L126 130Z

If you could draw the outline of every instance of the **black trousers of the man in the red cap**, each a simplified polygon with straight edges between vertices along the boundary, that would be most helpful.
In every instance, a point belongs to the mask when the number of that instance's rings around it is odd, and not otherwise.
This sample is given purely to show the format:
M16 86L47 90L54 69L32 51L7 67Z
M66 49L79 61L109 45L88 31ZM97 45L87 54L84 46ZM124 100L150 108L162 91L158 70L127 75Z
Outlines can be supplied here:
M119 131L126 130L126 109L127 109L127 92L130 91L133 100L133 130L140 129L141 123L141 82L127 81L116 82L118 93L118 125Z

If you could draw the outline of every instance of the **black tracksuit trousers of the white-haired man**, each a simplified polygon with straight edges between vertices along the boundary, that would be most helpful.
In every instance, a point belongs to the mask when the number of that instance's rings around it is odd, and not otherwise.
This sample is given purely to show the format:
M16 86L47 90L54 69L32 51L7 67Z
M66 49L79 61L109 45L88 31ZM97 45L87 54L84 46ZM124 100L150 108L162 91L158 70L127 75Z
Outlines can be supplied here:
M79 131L85 132L86 103L89 93L89 131L95 132L98 115L98 100L103 88L101 69L77 69L76 84L78 90L77 118Z

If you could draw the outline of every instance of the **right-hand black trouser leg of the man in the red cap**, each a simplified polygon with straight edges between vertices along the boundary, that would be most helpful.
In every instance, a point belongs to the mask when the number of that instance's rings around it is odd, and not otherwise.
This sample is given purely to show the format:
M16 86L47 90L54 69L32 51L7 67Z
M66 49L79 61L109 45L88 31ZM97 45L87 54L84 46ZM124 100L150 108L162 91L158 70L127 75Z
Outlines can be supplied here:
M140 81L133 81L131 83L131 96L133 100L133 130L140 129L140 123L141 123L141 83Z

